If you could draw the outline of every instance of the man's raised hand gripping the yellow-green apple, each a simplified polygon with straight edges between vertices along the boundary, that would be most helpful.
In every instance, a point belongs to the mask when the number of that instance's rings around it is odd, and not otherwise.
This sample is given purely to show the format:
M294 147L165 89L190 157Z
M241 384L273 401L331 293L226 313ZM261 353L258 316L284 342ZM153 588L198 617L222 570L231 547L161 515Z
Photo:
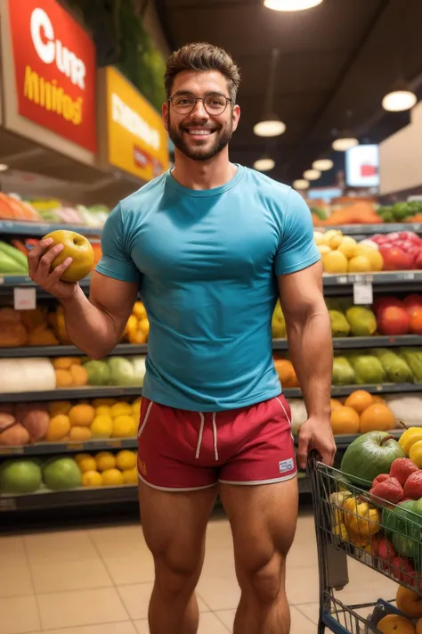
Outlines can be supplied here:
M28 267L29 276L38 286L50 292L58 300L69 300L77 292L77 283L61 282L61 276L72 263L71 258L67 258L52 271L54 259L63 251L63 245L57 244L53 248L53 240L48 238L40 240L39 243L29 252Z

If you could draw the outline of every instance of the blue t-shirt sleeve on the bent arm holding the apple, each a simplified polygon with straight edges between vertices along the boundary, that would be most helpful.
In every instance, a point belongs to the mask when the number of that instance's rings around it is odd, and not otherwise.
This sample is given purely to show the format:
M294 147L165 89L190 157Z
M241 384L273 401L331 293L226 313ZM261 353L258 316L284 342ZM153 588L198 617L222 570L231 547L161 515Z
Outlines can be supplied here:
M126 247L128 235L122 218L120 203L111 211L101 234L101 259L95 270L103 276L122 282L139 282L141 273Z

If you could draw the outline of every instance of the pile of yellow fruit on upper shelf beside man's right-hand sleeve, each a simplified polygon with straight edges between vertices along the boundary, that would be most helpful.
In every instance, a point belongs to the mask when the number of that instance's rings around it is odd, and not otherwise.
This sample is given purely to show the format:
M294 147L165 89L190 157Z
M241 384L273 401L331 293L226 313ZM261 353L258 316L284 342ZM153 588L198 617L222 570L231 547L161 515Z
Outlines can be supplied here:
M339 229L329 229L324 234L315 231L313 237L321 253L325 273L376 273L384 268L383 256L373 241L357 243Z

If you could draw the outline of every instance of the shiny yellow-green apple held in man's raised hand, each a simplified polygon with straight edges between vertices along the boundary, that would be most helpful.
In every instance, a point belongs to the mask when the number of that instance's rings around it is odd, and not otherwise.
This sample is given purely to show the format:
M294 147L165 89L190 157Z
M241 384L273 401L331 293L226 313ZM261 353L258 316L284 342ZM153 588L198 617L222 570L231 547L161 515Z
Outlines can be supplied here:
M76 231L59 229L45 238L53 240L52 247L56 244L64 246L61 254L53 260L52 268L56 268L67 258L72 258L69 268L61 276L63 282L78 282L88 275L93 268L93 247L84 235L77 234Z

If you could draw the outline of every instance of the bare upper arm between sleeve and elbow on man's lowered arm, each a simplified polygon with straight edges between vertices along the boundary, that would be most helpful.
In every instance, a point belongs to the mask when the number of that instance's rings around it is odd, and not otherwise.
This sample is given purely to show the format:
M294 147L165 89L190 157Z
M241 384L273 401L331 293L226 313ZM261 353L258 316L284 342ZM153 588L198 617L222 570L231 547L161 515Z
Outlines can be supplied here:
M285 317L300 319L325 307L321 261L295 273L277 276L280 303Z

